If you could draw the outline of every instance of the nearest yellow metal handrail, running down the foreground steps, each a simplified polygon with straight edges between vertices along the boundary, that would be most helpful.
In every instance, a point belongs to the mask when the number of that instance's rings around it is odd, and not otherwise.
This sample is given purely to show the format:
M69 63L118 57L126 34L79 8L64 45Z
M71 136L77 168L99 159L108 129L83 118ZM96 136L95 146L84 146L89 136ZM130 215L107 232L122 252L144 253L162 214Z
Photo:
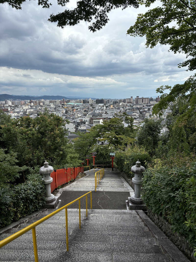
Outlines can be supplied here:
M68 243L68 219L67 219L67 207L71 204L75 203L77 200L79 201L79 227L81 229L81 217L80 217L80 199L86 196L86 216L87 216L87 195L90 193L90 208L92 209L92 191L89 191L88 193L80 196L79 198L73 200L72 202L68 203L65 206L62 206L61 208L55 210L51 214L44 216L43 218L39 219L38 221L32 223L31 225L21 229L20 231L14 233L13 235L3 239L0 241L0 248L2 248L4 245L10 243L14 239L20 237L27 231L30 231L32 229L32 235L33 235L33 249L34 249L34 257L35 262L38 262L38 254L37 254L37 239L36 239L36 230L35 227L44 222L45 220L49 219L50 217L54 216L55 214L59 213L61 210L65 209L65 221L66 221L66 245L67 245L67 251L69 251L69 243Z

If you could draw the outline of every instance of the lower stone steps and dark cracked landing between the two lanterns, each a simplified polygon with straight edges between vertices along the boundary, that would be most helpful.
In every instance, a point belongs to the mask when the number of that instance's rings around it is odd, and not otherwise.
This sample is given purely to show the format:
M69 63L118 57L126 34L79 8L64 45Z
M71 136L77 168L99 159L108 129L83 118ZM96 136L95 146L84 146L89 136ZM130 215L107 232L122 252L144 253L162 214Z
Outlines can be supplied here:
M118 170L105 169L104 176L99 185L97 185L96 192L94 169L90 172L86 171L86 174L87 176L59 190L61 193L59 197L61 200L60 207L92 191L93 209L126 209L125 200L134 190L120 175ZM78 208L78 203L74 203L70 208ZM81 199L81 208L86 208L85 199ZM88 195L88 208L90 208L90 195Z

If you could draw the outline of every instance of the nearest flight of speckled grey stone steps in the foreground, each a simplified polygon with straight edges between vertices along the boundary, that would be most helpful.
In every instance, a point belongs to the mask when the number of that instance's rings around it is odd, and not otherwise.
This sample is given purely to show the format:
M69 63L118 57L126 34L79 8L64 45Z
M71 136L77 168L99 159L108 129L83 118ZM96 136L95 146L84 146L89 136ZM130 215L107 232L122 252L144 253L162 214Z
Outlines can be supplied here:
M0 239L21 230L53 212L39 213ZM169 262L135 210L68 209L69 252L66 251L65 210L36 227L39 262ZM32 232L29 231L0 249L0 261L34 261Z

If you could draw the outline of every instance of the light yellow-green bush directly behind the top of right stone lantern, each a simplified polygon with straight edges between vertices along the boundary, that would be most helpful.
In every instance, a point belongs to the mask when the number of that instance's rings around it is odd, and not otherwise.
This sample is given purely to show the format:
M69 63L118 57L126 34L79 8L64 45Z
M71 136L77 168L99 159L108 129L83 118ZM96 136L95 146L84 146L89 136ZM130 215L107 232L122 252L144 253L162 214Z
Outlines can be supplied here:
M135 165L138 159L145 168L147 167L146 162L151 162L152 160L144 147L134 146L125 152L117 152L114 161L120 171L124 171L132 177L131 167Z

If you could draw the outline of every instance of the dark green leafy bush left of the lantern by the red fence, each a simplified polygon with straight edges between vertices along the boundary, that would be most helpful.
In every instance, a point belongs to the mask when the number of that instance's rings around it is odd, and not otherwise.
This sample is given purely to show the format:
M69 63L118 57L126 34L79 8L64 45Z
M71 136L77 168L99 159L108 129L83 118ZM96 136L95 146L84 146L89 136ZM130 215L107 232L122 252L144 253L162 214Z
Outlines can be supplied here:
M45 187L39 174L30 175L25 183L0 188L0 227L7 226L45 204Z

